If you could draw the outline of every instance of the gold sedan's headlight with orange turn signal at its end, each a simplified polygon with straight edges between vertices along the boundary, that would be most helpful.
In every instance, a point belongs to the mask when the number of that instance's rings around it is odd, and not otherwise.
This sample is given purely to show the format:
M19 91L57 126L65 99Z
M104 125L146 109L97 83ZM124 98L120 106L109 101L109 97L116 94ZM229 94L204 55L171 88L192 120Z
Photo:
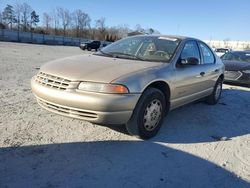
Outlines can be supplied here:
M91 91L99 93L116 93L116 94L129 93L128 88L120 84L81 82L78 86L78 89L82 91Z

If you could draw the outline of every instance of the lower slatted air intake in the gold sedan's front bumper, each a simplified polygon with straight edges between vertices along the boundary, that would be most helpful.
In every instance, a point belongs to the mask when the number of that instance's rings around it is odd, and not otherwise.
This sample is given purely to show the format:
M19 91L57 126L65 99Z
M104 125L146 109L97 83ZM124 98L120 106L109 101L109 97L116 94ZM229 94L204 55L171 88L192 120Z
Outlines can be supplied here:
M87 112L85 110L81 109L73 109L70 107L62 107L56 104L51 104L49 102L45 102L41 99L37 99L38 104L41 105L43 108L50 110L52 112L56 112L62 115L75 117L78 119L96 119L98 116L96 113L93 112Z

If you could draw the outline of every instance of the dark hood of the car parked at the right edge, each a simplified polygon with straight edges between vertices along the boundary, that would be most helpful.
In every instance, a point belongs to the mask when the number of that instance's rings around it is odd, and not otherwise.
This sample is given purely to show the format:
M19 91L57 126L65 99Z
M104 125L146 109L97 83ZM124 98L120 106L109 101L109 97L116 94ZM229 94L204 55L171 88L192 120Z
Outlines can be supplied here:
M227 61L223 60L227 71L240 71L250 69L250 63L244 61Z

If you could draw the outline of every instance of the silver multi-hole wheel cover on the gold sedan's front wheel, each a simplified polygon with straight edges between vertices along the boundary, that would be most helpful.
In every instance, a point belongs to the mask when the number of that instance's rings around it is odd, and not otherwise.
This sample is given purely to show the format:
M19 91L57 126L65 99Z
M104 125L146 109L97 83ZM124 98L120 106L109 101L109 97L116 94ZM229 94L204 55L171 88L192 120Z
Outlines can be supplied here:
M143 125L147 131L153 131L160 122L162 116L162 104L158 99L151 101L144 112Z

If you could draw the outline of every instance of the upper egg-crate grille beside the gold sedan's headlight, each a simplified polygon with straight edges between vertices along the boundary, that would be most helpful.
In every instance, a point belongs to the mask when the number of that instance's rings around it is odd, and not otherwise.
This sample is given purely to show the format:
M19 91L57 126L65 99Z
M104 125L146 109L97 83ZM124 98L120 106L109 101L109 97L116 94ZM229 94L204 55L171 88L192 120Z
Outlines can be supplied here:
M66 90L69 88L71 81L58 77L53 76L50 74L46 74L43 72L39 72L36 76L36 82L50 88Z

